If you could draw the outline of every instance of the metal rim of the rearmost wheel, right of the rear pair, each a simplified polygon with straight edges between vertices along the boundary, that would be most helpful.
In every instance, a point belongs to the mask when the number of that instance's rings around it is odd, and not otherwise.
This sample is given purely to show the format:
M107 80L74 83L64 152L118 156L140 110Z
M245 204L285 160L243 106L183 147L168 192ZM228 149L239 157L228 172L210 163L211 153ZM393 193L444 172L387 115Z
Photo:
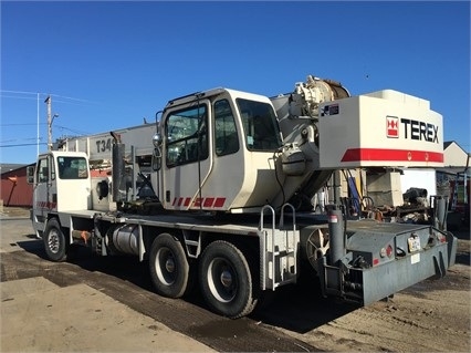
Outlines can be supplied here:
M232 301L238 292L237 273L226 259L213 259L208 267L208 284L212 295L220 302Z

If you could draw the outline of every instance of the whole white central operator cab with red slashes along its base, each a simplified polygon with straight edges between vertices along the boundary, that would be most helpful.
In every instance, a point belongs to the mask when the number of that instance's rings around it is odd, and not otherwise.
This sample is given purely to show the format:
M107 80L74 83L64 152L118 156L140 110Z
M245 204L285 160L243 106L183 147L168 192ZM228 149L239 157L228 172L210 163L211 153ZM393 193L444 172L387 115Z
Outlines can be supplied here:
M227 89L187 95L167 104L159 126L166 209L244 212L276 194L282 136L268 97Z

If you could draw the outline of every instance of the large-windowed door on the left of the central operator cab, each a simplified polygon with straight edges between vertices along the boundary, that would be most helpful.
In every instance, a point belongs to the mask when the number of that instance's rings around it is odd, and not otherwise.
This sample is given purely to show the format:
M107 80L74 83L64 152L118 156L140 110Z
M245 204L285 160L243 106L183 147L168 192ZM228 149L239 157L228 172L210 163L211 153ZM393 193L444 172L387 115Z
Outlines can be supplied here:
M209 101L170 112L164 122L163 201L167 209L199 208L212 154Z

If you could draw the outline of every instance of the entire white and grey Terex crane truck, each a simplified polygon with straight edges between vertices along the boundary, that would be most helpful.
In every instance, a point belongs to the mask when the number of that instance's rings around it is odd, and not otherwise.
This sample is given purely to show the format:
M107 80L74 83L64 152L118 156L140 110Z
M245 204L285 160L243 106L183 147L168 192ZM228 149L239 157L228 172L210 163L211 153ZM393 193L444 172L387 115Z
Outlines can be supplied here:
M338 169L441 166L442 131L426 100L352 96L312 75L274 97L196 92L169 101L155 124L39 155L31 220L52 261L78 246L134 256L158 294L181 298L198 283L208 308L232 319L296 283L304 264L324 297L368 305L443 277L457 239L439 221L350 220L336 203L318 214L293 200Z

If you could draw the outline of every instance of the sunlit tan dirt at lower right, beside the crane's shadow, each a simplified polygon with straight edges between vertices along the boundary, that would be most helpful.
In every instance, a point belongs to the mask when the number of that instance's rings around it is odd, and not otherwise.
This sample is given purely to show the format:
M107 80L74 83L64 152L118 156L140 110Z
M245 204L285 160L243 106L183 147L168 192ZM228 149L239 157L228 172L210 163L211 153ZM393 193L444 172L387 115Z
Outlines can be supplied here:
M470 352L470 232L458 236L457 263L447 277L423 281L388 302L354 310L306 332L289 333L321 351Z

